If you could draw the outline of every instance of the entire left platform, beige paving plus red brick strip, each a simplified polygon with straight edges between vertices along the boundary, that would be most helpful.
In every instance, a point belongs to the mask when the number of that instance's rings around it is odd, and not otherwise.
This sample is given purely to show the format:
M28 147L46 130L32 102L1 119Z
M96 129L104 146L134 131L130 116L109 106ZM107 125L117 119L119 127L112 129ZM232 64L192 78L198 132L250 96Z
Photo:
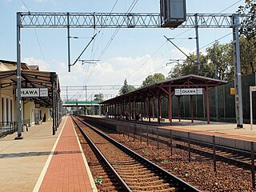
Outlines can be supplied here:
M97 191L70 117L0 138L0 191Z

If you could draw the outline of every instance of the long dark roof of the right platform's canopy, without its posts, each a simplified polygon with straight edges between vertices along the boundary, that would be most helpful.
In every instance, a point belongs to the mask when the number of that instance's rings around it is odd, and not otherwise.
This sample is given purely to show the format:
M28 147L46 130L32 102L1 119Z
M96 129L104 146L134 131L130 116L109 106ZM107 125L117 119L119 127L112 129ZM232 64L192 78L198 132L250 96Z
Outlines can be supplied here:
M164 97L169 93L172 93L174 89L177 88L209 88L224 85L226 83L226 81L216 78L206 78L195 74L189 74L179 78L170 78L166 81L156 82L150 86L144 86L130 93L122 94L116 98L111 98L101 102L100 104L144 102L146 101L146 98L153 98L156 96Z

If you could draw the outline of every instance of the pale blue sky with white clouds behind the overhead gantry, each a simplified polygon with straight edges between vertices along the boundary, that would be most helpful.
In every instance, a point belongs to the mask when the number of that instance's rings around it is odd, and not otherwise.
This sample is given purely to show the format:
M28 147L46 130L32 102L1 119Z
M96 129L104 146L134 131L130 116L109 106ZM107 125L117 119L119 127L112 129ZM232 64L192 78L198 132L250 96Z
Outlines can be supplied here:
M17 12L74 12L74 13L126 13L134 0L0 0L0 60L16 61L16 13ZM159 0L138 0L131 13L159 13ZM114 6L115 5L115 6ZM186 1L187 14L233 14L244 0L190 0ZM99 60L95 63L77 62L67 69L66 29L22 29L22 62L38 65L42 71L55 71L61 86L141 85L145 78L154 73L168 76L177 63L170 59L185 59L172 41L186 54L195 53L194 29L71 29L71 63L78 58L94 34L95 40L81 59ZM223 38L225 37L225 38ZM188 39L192 38L192 39ZM199 29L200 52L216 40L227 43L232 40L232 29ZM110 42L110 45L108 43ZM118 90L87 90L91 95L102 93L106 98L118 94ZM65 97L62 91L62 98ZM70 92L69 98L85 97L84 91Z

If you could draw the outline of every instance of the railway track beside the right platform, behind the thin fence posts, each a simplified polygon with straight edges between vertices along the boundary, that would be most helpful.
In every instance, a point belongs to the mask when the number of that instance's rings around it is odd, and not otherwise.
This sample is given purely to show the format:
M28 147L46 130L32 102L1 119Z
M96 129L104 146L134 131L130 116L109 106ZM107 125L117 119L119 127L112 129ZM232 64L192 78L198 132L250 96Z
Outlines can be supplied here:
M202 156L214 158L213 143L210 142L200 142L194 139L190 139L190 147L188 145L188 138L171 136L170 130L161 129L140 129L131 130L132 132L122 133L122 134L132 134L130 137L137 138L140 141L149 143L149 141L154 141L155 145L159 146L162 143L166 146L175 146L182 150L188 150L190 152L200 154ZM129 130L129 129L128 129ZM112 129L112 131L114 131ZM119 133L120 134L120 133ZM170 138L172 144L170 144ZM174 144L175 143L175 144ZM151 142L152 144L152 142ZM174 144L174 145L173 145ZM254 154L255 156L255 154ZM255 159L252 160L252 154L250 151L238 150L231 147L215 145L215 158L218 161L229 162L232 165L240 166L247 170L253 169L252 162L255 164Z

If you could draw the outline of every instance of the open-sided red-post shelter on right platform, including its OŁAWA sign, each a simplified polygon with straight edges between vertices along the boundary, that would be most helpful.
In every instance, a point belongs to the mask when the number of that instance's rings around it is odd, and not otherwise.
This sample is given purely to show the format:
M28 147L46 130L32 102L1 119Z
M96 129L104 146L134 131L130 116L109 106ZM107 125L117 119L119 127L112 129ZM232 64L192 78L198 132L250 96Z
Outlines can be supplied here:
M162 100L168 99L168 118L172 122L172 97L178 97L178 118L180 121L180 98L190 96L190 117L193 122L193 95L205 94L207 123L210 123L209 93L216 86L226 84L226 81L216 78L206 78L194 74L178 78L170 78L166 81L156 82L150 86L144 86L116 98L101 102L103 113L121 118L122 120L138 120L154 118L155 111L160 124L162 119ZM140 106L140 107L138 107ZM156 110L154 107L156 106ZM136 116L138 118L136 118Z

